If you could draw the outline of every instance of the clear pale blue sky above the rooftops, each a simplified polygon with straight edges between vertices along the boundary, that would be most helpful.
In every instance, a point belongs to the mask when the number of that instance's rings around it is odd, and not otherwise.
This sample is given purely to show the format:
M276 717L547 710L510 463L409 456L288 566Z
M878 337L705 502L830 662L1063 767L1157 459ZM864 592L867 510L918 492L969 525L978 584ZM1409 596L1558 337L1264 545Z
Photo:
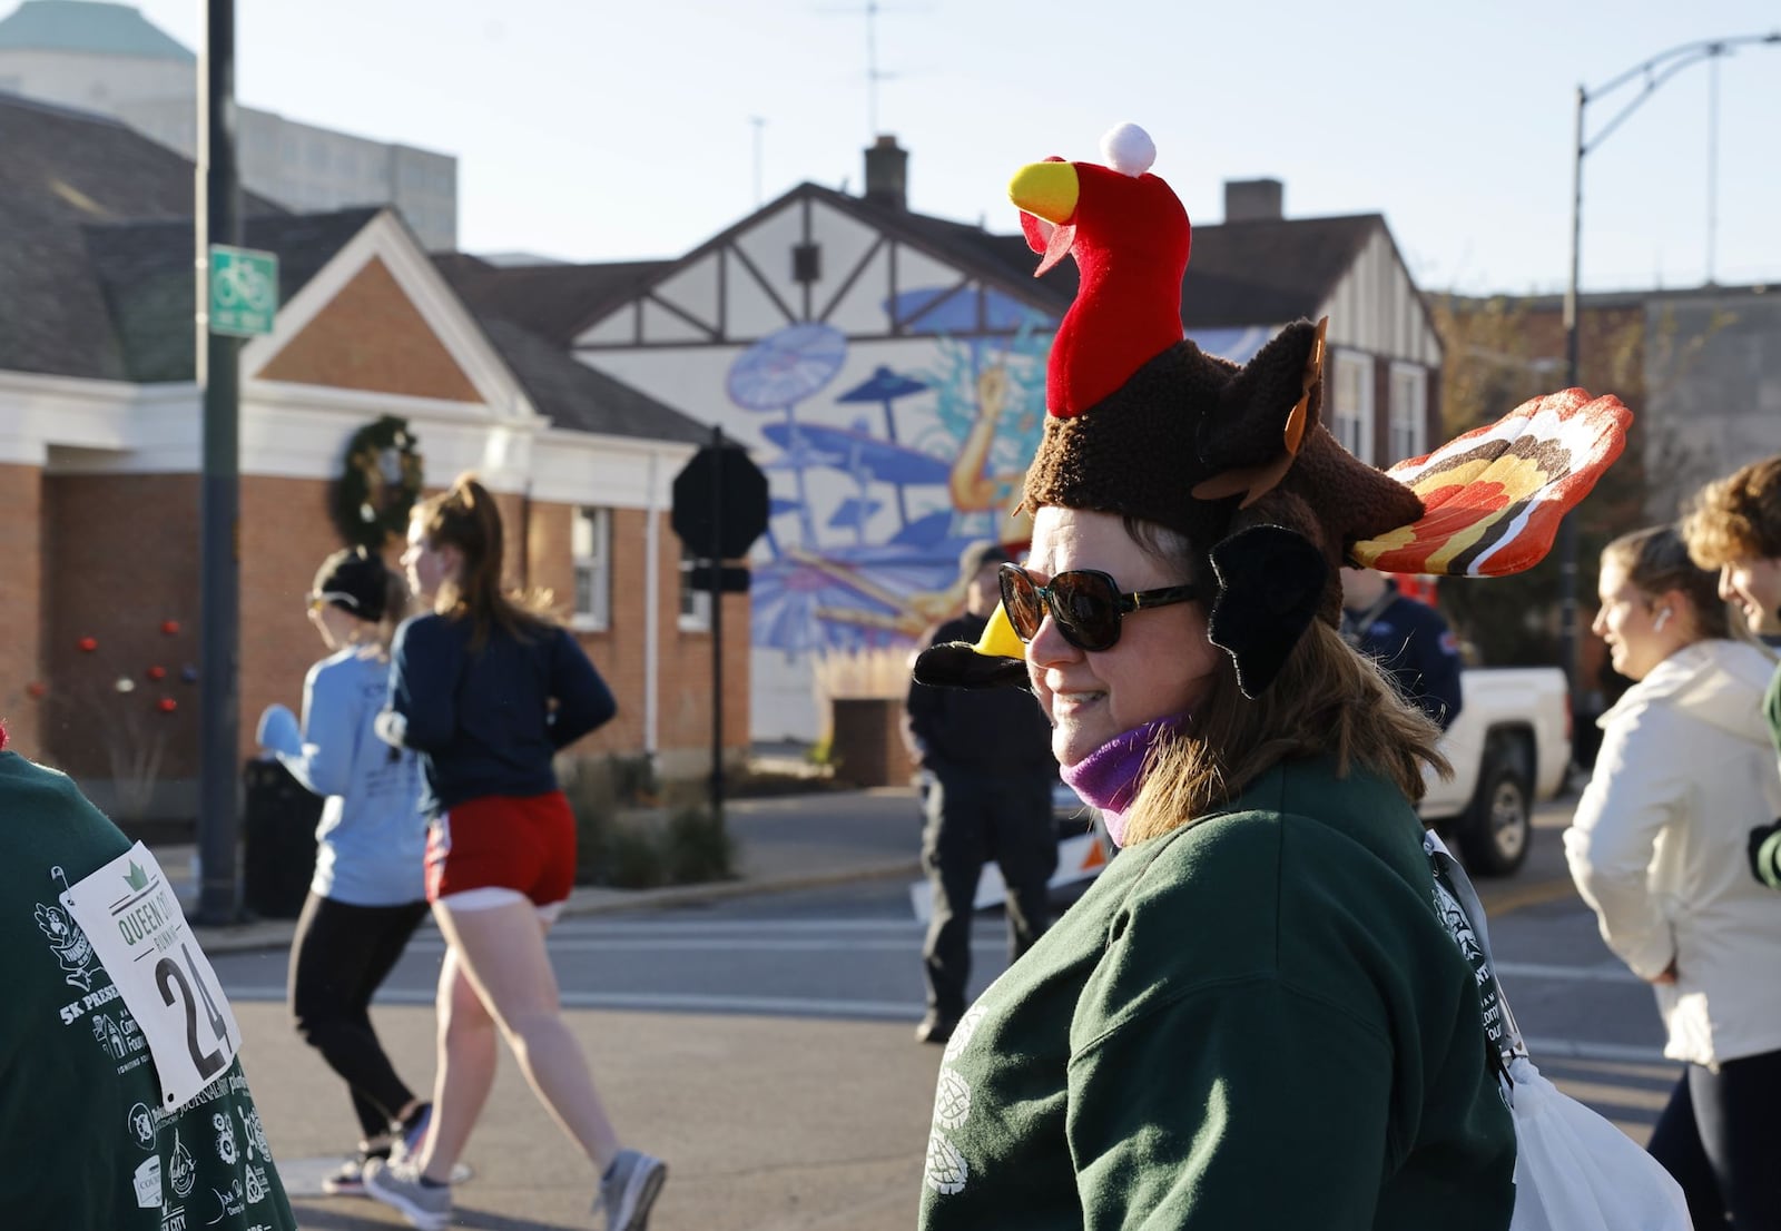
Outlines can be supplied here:
M141 7L199 45L201 0ZM680 255L753 208L757 132L766 200L860 185L864 0L240 0L237 21L244 103L458 155L467 251ZM992 230L1019 164L1095 159L1133 119L1195 219L1270 175L1289 216L1382 212L1425 289L1558 290L1576 86L1776 29L1772 0L883 0L878 130L910 150L912 208ZM1683 69L1585 160L1587 289L1706 276L1712 80ZM1722 283L1781 280L1777 121L1781 46L1719 61Z

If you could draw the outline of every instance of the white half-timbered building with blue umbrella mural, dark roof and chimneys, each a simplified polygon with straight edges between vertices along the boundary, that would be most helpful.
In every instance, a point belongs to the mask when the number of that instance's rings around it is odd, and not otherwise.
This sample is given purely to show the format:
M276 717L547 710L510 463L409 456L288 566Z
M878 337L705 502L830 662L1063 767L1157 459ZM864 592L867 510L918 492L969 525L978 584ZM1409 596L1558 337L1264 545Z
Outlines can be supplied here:
M803 183L680 260L459 283L549 315L536 328L581 362L720 424L768 470L757 739L816 738L826 695L898 688L908 647L956 609L960 550L1024 536L1010 513L1076 269L1035 280L1021 235L910 212L905 157L880 139L864 198ZM1188 335L1243 362L1329 315L1332 429L1371 461L1427 451L1441 347L1384 219L1284 219L1266 185L1272 212L1238 192L1243 221L1195 230Z

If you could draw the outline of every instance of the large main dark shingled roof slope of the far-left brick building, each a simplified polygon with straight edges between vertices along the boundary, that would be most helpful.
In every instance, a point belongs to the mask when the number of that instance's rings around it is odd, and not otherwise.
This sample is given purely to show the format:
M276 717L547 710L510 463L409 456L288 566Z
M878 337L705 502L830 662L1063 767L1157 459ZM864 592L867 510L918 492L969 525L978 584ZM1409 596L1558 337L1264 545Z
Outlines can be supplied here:
M192 164L125 125L0 93L0 369L132 379L87 230L191 230ZM244 194L246 214L281 214ZM180 315L191 326L191 244Z

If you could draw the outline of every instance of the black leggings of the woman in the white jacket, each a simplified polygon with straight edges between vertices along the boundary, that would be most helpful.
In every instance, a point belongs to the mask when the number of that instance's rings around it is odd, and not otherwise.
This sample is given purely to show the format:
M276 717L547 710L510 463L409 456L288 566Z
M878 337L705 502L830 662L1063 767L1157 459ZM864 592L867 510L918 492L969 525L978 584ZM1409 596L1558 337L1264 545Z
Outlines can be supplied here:
M1651 1129L1651 1156L1688 1197L1696 1231L1781 1231L1781 1051L1690 1064Z

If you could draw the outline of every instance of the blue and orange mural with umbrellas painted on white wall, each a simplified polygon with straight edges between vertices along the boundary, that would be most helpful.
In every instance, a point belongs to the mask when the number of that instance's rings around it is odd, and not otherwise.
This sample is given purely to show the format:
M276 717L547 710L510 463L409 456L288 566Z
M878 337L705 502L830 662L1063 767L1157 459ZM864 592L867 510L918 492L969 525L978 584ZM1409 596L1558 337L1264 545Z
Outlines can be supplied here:
M839 381L844 333L793 324L730 365L773 485L752 581L753 643L787 659L907 645L964 604L958 556L1010 520L1045 422L1056 321L996 290L905 290L885 312L931 338L919 365ZM985 333L983 330L992 333Z

